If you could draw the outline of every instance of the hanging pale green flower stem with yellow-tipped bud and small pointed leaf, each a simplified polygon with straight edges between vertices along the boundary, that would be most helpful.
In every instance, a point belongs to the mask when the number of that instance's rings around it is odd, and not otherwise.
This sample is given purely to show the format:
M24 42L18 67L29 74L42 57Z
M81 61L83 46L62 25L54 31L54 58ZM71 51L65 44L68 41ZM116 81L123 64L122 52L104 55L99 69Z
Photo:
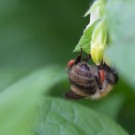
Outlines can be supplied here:
M93 2L86 13L86 15L90 14L90 22L76 47L77 49L83 48L84 52L91 54L91 58L96 65L99 65L102 60L106 62L104 52L109 41L105 16L106 4L106 0Z

